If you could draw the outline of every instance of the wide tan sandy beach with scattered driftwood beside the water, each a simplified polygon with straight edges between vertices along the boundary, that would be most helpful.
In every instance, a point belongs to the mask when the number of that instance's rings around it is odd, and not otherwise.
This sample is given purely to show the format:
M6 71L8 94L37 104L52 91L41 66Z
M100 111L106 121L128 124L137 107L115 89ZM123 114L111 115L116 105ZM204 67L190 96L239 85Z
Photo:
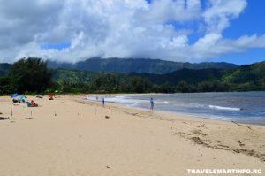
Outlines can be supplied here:
M187 169L261 169L265 127L115 103L0 96L0 175L188 175ZM11 114L12 110L12 114Z

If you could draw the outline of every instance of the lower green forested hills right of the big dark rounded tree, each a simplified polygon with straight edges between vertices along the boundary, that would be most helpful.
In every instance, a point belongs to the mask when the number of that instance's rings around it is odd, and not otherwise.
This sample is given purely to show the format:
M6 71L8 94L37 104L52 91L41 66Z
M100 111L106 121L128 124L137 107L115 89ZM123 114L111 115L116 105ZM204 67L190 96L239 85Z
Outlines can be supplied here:
M181 69L166 74L86 72L57 69L54 80L96 92L211 92L265 90L265 62L229 69ZM71 87L70 86L70 87ZM89 89L88 88L88 89ZM148 89L149 88L149 89ZM125 91L126 92L126 91Z

